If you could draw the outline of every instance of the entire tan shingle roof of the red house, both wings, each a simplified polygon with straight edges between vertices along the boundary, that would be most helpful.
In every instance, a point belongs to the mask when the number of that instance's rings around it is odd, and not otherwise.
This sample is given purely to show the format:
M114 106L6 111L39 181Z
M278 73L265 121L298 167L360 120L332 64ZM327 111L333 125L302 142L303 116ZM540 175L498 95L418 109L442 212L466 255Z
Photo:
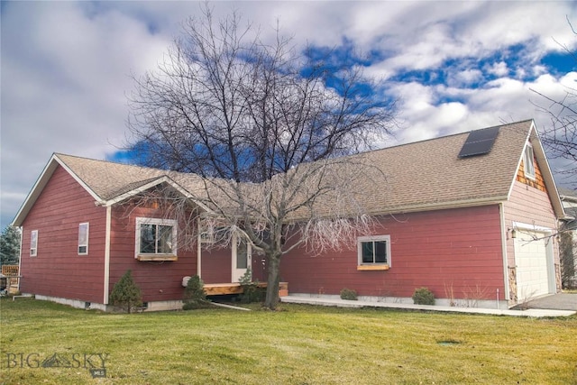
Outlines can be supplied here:
M355 184L359 192L357 199L372 215L504 201L515 180L527 137L531 135L534 147L537 145L541 149L532 127L531 120L503 124L489 153L466 158L459 158L458 155L469 133L353 155L379 168L378 172L368 170L364 174L366 178L359 179ZM540 166L546 168L545 154L536 151L537 157L539 154L545 163ZM54 157L99 197L101 203L130 195L131 191L163 178L174 181L191 196L206 195L203 192L206 191L206 183L196 174L65 154L55 154ZM38 196L39 192L34 190L43 187L42 183L40 186L38 183L14 220L16 225L23 220L22 215L25 216L25 211L29 209L26 207L31 207L28 200L31 197L35 200ZM552 178L550 184L554 189ZM251 188L251 185L246 188ZM334 203L324 204L330 207Z

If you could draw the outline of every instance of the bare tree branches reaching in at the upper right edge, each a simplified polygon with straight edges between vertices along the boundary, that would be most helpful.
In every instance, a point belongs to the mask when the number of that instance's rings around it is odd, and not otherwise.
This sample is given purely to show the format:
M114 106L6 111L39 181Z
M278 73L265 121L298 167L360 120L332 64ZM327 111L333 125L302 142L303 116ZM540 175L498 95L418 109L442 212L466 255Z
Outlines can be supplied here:
M567 23L577 37L569 19ZM577 64L577 52L572 51L566 44L556 41ZM563 96L554 97L545 95L532 89L544 102L536 104L537 108L549 115L551 124L545 126L542 132L542 142L545 151L553 159L567 160L569 168L562 173L577 177L577 88L564 87Z

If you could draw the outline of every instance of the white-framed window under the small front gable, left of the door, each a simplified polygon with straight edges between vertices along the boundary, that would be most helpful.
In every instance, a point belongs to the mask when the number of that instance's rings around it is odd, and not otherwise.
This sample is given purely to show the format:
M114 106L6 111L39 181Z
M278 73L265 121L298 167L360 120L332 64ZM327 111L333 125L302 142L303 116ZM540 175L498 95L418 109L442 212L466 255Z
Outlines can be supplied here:
M135 258L141 261L176 261L176 239L176 221L136 218Z

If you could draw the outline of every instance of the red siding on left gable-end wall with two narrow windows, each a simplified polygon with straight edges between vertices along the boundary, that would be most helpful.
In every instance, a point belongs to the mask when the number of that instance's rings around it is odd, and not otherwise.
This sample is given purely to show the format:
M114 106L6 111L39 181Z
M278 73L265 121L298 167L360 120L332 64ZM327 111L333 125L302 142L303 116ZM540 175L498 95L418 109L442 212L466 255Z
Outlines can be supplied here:
M88 255L78 255L78 225L88 222ZM38 230L38 253L30 235ZM105 208L60 166L23 221L21 290L51 297L102 303Z

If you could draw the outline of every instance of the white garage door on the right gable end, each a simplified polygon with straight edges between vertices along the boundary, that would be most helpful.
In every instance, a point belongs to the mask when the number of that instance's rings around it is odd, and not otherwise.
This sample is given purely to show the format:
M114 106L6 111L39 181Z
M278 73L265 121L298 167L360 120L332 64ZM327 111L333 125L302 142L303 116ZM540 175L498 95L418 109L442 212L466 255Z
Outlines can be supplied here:
M517 232L515 260L519 302L549 294L547 245L544 236L545 234Z

